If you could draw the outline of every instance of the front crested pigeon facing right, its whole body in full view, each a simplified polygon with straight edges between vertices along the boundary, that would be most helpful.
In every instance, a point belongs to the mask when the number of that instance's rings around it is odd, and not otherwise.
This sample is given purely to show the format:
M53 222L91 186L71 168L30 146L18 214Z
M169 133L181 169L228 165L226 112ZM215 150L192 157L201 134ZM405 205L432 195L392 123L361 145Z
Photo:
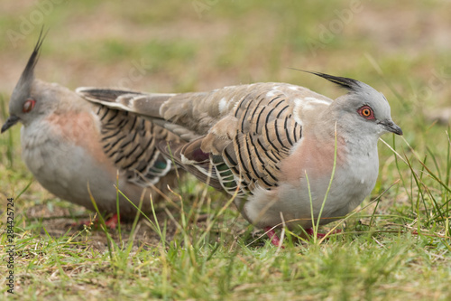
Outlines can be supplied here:
M402 135L382 93L358 80L309 73L348 93L332 100L271 82L180 94L76 91L179 136L179 142L160 143L161 152L199 180L235 195L244 218L277 244L275 227L309 230L323 202L320 224L353 211L376 183L379 137Z

